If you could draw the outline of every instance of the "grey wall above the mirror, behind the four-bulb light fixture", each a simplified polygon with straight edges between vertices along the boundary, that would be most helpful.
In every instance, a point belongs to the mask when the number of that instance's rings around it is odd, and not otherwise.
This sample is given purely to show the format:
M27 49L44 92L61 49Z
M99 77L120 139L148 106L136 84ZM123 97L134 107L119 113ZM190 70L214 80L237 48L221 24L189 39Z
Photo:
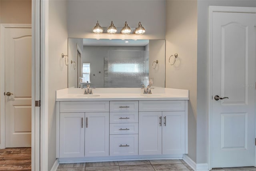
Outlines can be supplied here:
M111 20L116 27L122 28L127 21L131 28L138 22L146 33L136 39L165 39L165 0L70 0L68 1L69 38L126 38L132 35L96 35L92 28L97 20L102 27L110 26Z

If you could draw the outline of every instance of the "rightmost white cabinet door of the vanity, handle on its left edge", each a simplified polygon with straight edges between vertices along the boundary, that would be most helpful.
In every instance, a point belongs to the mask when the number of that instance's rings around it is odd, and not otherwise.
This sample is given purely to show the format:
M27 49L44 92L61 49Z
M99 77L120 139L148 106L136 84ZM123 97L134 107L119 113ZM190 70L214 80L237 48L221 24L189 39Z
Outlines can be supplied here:
M185 153L185 111L163 111L162 154Z

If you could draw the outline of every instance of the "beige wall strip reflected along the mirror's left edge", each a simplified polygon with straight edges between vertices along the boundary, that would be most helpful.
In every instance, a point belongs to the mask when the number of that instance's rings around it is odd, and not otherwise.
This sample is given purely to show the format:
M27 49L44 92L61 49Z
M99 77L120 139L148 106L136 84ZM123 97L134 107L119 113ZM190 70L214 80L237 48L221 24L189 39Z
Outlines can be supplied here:
M68 87L76 87L77 84L77 47L79 46L80 50L83 51L83 39L68 39ZM70 62L76 62L76 70L74 70L74 65Z

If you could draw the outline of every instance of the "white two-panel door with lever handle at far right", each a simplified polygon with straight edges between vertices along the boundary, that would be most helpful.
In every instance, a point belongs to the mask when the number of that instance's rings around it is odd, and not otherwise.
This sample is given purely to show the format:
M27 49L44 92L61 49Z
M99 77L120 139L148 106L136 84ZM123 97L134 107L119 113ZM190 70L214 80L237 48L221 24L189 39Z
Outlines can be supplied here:
M212 167L254 166L256 14L212 15Z

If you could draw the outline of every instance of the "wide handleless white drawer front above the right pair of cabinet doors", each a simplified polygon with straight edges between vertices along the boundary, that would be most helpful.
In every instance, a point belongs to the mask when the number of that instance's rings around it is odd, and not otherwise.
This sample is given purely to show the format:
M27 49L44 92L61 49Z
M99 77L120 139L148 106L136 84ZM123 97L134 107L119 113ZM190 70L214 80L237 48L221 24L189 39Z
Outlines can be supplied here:
M185 100L139 101L139 111L184 111Z

